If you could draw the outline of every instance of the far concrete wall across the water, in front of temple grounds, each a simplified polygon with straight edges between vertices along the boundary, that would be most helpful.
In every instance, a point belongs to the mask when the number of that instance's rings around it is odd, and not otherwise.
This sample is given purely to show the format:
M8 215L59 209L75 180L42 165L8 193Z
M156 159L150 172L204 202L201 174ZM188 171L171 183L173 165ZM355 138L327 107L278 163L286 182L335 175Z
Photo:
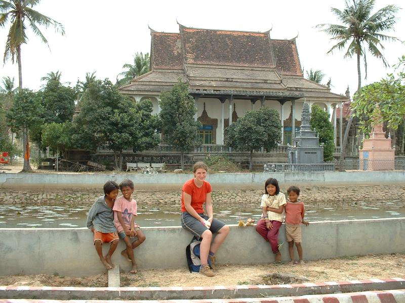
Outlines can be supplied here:
M384 184L405 180L405 171L355 171L355 172L294 172L294 173L237 173L209 174L207 181L214 187L263 186L264 181L276 178L284 184L322 183ZM118 183L131 179L138 188L181 188L192 178L191 174L0 174L0 188L50 189L50 188L100 188L107 180Z

